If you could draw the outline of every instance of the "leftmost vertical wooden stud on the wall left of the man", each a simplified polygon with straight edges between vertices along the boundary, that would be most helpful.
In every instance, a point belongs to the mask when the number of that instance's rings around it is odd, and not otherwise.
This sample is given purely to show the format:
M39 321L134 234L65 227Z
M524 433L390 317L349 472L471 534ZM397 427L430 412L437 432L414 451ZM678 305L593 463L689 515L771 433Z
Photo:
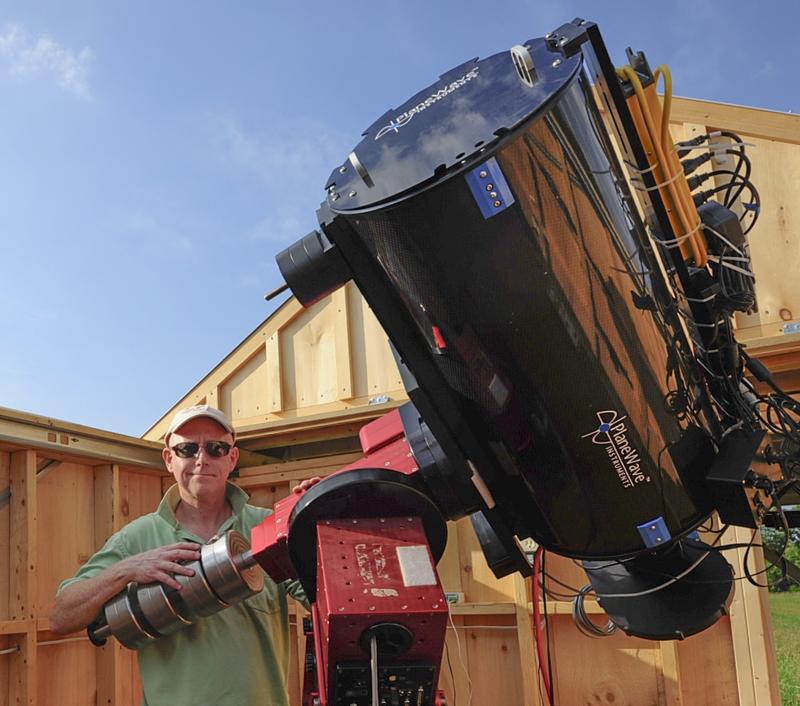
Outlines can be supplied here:
M11 454L9 479L10 576L9 612L11 620L26 623L25 634L12 658L9 703L15 706L36 704L36 452Z

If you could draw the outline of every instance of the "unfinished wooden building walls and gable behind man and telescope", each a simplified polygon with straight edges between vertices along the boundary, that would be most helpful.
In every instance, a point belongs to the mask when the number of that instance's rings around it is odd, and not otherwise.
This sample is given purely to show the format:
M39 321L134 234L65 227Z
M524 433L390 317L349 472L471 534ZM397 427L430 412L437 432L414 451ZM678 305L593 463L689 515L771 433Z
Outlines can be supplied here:
M800 117L676 99L676 137L728 128L756 145L753 170L764 201L752 254L762 310L741 317L740 339L781 384L800 389ZM778 170L781 170L778 173ZM787 176L788 175L788 176ZM352 284L308 310L289 299L218 366L134 439L0 409L0 706L138 703L134 653L115 641L97 649L85 635L59 638L48 613L61 579L106 537L155 509L171 477L160 440L174 411L206 402L234 421L243 448L236 482L251 502L271 506L305 477L359 456L366 422L406 400L385 336ZM729 530L723 541L747 542ZM759 552L756 561L762 562ZM728 555L743 575L744 552ZM759 564L762 566L763 564ZM758 568L758 567L756 567ZM465 520L450 523L439 572L452 605L442 687L449 703L544 704L533 638L530 583L497 580ZM572 561L548 555L551 588L579 587ZM591 706L767 706L780 703L766 592L737 583L730 614L681 642L621 634L591 640L574 626L568 601L547 602L558 703ZM604 619L600 607L589 613ZM300 617L292 609L290 689L299 704Z

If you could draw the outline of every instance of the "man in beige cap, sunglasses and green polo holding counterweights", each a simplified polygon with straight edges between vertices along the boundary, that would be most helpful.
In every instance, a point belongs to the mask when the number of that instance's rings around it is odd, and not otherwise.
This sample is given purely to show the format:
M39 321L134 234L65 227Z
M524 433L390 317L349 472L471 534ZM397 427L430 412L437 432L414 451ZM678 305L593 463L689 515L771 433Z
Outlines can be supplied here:
M56 596L51 629L60 634L89 625L131 581L180 589L173 574L191 576L181 562L198 559L201 544L229 529L250 530L272 510L247 504L228 482L239 450L227 417L208 405L175 415L162 456L175 477L158 509L111 536ZM304 481L301 492L317 482ZM146 706L288 706L287 592L305 601L297 582L265 577L261 593L139 650Z

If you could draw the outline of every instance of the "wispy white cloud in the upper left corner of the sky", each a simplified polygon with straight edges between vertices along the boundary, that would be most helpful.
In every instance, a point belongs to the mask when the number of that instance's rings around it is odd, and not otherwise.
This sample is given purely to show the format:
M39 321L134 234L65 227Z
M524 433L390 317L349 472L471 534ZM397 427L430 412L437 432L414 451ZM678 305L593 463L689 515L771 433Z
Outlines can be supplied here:
M80 98L90 98L89 68L92 51L76 52L48 34L32 37L19 24L8 24L0 32L0 58L8 74L16 78L47 76L59 88Z

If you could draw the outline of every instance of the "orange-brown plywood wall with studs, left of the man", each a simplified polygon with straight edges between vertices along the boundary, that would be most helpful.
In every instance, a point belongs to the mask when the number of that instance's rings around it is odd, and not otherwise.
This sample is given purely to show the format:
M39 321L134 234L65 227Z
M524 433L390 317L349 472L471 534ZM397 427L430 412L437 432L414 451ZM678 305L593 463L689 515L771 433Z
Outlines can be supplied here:
M141 700L135 655L49 631L59 583L155 509L163 470L0 447L0 706Z

